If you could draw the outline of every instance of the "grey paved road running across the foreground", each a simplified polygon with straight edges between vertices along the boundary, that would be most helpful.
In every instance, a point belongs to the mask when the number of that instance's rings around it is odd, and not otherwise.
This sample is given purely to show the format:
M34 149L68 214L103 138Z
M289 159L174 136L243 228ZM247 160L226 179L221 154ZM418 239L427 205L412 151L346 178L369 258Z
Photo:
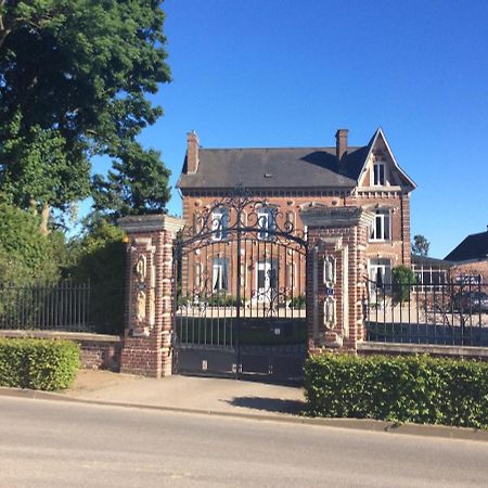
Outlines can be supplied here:
M488 444L0 398L0 487L483 486Z

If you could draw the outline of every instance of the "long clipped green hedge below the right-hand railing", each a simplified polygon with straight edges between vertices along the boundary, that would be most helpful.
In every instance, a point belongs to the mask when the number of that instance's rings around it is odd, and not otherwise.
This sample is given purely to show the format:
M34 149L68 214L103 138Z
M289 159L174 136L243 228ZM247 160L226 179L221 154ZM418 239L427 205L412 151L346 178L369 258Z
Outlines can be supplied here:
M488 428L488 363L324 354L305 364L306 413Z

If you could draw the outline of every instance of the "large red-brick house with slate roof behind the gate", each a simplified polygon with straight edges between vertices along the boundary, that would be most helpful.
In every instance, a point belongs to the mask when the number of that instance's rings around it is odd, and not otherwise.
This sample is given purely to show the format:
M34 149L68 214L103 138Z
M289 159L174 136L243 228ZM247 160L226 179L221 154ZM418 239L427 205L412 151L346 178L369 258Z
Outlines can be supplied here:
M239 184L267 204L261 213L249 208L244 222L261 229L258 240L266 240L270 226L306 234L300 213L310 208L362 207L375 214L365 248L369 278L389 282L393 267L410 265L410 193L415 183L398 165L381 128L362 146L348 145L346 129L337 130L335 139L335 146L321 147L203 149L197 134L190 132L178 181L183 219L190 227L197 226L201 216ZM224 205L211 211L211 226L222 231L213 239L223 245L232 216ZM278 249L272 256L272 248L259 251L253 244L244 245L242 252L248 256L241 272L247 299L266 300L261 292L273 287L286 288L287 294L304 290L303 256L293 252L290 257L278 256ZM206 256L198 269L187 264L188 282L198 288L205 274L207 290L232 295L235 252L226 248L222 255Z

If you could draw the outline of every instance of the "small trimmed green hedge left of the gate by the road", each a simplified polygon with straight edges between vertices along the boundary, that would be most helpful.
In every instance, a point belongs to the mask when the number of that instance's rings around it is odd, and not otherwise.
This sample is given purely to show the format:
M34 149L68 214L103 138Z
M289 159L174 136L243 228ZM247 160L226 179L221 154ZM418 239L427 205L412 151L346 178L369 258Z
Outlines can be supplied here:
M68 341L0 338L0 386L67 388L80 367L79 346Z

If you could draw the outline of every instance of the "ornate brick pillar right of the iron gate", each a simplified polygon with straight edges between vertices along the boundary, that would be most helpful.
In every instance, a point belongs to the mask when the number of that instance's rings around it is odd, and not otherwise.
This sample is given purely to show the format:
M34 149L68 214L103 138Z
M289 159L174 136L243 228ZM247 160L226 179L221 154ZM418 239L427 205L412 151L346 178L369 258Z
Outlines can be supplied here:
M317 208L301 219L308 227L309 350L356 351L363 338L364 251L374 214L359 207Z

